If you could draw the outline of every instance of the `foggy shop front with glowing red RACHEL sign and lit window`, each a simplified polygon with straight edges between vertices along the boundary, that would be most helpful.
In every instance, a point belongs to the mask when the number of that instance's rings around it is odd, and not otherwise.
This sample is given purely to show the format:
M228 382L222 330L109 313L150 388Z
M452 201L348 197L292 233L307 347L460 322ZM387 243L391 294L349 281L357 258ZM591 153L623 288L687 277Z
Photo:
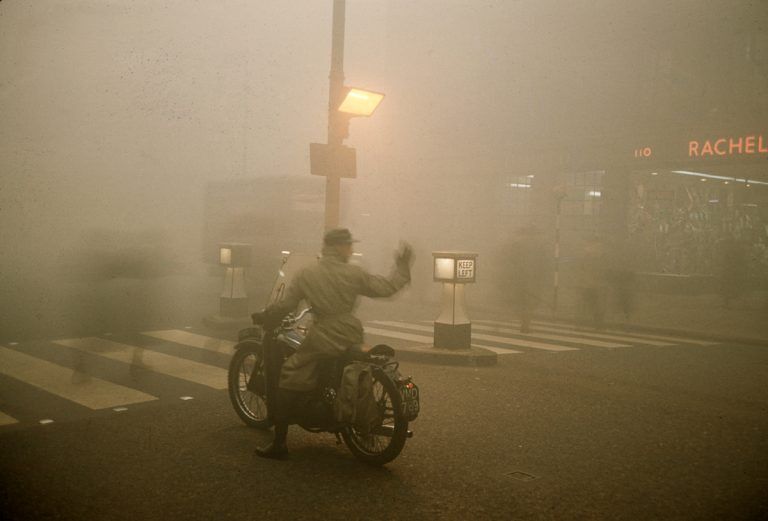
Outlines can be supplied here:
M768 285L768 132L597 146L571 166L562 179L571 242L598 237L647 289Z

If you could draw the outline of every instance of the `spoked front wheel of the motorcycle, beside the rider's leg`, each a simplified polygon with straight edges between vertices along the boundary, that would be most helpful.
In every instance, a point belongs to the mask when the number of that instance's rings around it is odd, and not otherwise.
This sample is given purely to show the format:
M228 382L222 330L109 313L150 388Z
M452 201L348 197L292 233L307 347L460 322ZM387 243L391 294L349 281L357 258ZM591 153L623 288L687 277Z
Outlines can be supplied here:
M261 346L247 344L235 351L229 363L229 400L235 412L249 427L269 429L264 357Z

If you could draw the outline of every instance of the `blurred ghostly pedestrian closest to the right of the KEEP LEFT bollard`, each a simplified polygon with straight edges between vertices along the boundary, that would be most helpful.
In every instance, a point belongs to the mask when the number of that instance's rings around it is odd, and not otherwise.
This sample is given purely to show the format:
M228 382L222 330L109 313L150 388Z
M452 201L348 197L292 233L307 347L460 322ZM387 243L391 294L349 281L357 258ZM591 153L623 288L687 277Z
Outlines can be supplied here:
M510 245L510 291L513 307L520 317L520 332L529 333L534 310L546 287L547 245L534 223L520 228Z

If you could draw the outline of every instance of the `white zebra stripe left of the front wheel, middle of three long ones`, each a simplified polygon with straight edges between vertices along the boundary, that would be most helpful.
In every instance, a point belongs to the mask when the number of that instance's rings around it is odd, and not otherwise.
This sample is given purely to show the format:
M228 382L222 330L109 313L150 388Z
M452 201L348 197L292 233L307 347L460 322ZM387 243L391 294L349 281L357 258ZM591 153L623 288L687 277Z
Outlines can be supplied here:
M142 347L121 344L105 338L71 338L57 340L55 343L126 364L131 364L138 358L149 371L213 389L227 388L227 371L212 365L158 353Z

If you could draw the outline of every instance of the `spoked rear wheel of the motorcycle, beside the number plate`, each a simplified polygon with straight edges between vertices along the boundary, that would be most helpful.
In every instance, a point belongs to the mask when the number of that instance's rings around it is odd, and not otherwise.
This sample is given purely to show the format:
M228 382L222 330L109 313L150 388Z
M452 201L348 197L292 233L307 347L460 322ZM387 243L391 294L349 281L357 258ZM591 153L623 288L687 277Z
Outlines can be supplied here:
M389 463L403 450L408 436L408 421L400 413L400 393L392 380L381 371L373 375L373 396L379 407L381 425L370 432L345 427L341 436L356 458L378 466Z

